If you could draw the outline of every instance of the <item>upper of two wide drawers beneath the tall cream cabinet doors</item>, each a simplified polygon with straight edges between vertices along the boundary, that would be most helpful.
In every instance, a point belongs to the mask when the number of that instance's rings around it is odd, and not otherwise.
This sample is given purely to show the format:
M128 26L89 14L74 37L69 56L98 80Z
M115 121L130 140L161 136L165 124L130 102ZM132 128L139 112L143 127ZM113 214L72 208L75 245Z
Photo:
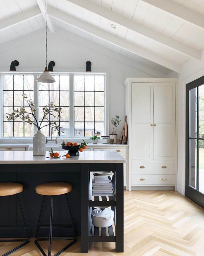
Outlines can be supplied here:
M132 162L131 172L147 173L147 172L175 172L174 162Z

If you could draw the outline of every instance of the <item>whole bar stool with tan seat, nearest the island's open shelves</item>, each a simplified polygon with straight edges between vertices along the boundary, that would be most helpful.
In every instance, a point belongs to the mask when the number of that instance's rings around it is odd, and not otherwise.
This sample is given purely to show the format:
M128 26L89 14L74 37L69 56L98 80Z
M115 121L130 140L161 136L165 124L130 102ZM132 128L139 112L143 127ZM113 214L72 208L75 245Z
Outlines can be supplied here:
M35 244L37 245L37 247L39 248L41 253L44 256L47 256L45 254L44 250L42 249L42 247L40 246L40 244L38 243L38 241L49 241L48 256L51 256L52 240L57 240L57 241L58 240L73 240L71 243L69 243L67 246L65 246L61 251L59 251L58 253L56 253L54 255L54 256L58 256L59 254L64 252L68 247L70 247L72 244L74 244L77 241L77 232L76 232L76 229L74 226L74 221L73 221L73 217L72 217L72 213L71 213L71 209L70 209L70 204L69 204L69 200L67 197L67 193L72 191L72 185L69 183L64 183L64 182L44 183L44 184L37 186L35 188L35 191L37 194L43 195L43 201L42 201L42 205L41 205L40 216L39 216L36 235L35 235ZM63 194L65 194L65 196L66 196L66 200L67 200L67 204L68 204L68 208L69 208L69 212L70 212L70 216L71 216L71 220L72 220L72 226L53 226L53 197L56 195L63 195ZM49 225L49 227L48 226L40 226L40 219L41 219L45 196L50 196L50 199L51 199L50 200L50 225ZM39 228L49 228L49 238L39 238L37 236ZM53 228L73 228L74 229L74 237L52 238L52 229Z

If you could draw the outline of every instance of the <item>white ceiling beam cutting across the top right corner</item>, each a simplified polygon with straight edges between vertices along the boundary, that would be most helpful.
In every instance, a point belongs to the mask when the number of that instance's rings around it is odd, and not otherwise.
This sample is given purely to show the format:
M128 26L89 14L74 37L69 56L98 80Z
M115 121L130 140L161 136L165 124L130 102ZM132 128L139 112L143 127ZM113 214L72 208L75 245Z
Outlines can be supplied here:
M176 4L169 0L142 0L148 4L151 4L165 12L171 13L177 17L180 17L200 28L204 28L204 16L196 13L180 4Z

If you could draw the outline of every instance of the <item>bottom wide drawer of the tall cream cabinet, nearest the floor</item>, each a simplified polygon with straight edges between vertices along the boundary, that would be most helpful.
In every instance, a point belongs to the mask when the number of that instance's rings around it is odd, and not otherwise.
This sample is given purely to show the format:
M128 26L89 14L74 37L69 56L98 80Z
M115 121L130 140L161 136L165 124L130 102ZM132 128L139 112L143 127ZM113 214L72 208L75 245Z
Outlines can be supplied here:
M175 174L131 174L132 185L175 185Z

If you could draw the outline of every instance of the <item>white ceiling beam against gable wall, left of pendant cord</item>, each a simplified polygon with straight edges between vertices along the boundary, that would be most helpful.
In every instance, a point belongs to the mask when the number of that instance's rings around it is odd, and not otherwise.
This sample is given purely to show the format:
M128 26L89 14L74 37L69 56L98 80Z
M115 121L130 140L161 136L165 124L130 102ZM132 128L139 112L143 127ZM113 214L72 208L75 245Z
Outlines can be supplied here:
M48 31L48 33L49 33L49 31ZM1 44L0 45L0 52L12 49L16 46L22 45L26 42L29 42L29 41L34 40L36 38L39 38L41 36L45 36L45 29L44 28L41 28L39 30L36 30L36 31L30 33L30 34L18 37L14 40L11 40L11 41L8 41L8 42L5 42L5 43Z

